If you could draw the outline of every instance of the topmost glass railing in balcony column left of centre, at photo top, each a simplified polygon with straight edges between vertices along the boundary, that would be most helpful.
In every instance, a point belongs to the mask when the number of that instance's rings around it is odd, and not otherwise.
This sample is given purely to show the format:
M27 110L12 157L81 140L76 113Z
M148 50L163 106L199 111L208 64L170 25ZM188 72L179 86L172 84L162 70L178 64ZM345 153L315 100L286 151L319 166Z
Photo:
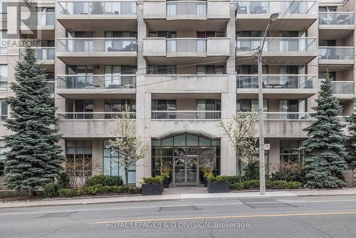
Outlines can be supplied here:
M61 15L136 14L136 1L57 1Z

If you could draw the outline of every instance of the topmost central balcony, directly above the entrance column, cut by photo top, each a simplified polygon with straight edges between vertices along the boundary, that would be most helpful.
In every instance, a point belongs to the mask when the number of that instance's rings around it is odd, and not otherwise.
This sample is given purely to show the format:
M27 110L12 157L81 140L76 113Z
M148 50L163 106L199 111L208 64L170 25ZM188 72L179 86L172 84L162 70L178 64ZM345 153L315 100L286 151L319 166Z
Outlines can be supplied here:
M145 1L143 18L167 20L229 19L229 1Z

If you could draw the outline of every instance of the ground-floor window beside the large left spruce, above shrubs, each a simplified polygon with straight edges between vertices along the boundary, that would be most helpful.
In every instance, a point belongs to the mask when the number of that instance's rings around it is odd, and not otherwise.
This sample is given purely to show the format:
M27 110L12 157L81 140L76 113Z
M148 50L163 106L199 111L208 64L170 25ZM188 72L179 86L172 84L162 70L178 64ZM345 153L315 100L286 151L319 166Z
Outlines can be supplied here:
M93 168L91 140L66 141L66 171L71 176L89 176Z

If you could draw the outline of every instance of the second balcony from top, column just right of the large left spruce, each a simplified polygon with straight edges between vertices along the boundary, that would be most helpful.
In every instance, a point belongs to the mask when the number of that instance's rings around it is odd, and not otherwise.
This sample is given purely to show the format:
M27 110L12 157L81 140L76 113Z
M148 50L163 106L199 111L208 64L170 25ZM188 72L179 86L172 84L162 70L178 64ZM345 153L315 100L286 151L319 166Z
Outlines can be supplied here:
M122 64L135 64L137 56L136 38L57 38L57 57L66 63L113 63L119 58ZM111 59L110 59L111 58Z

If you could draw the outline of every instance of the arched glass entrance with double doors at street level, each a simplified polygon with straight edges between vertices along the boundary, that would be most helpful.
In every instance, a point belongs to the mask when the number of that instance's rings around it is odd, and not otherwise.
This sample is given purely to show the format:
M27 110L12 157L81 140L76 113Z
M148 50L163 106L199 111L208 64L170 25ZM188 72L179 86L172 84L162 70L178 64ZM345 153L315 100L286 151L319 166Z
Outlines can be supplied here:
M201 131L174 131L152 139L152 175L164 167L170 168L172 185L202 183L204 168L220 173L220 139Z

